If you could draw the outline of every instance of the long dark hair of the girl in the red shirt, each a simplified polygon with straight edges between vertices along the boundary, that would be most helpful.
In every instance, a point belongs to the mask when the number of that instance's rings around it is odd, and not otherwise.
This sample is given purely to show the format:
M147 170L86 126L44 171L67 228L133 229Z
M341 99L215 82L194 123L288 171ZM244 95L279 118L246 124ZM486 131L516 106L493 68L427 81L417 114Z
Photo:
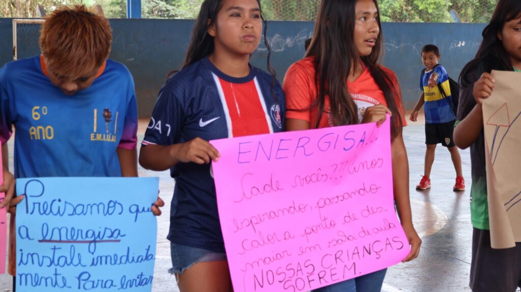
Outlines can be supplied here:
M373 0L377 10L378 3ZM356 104L351 97L347 81L351 68L356 70L356 60L361 59L382 90L388 108L392 112L392 137L396 137L402 128L402 116L395 97L398 96L398 82L391 80L378 61L382 50L381 23L376 46L369 56L361 57L354 41L356 0L322 0L318 10L313 39L306 52L306 57L315 57L315 83L319 117L324 113L326 96L329 97L331 117L334 125L358 124Z

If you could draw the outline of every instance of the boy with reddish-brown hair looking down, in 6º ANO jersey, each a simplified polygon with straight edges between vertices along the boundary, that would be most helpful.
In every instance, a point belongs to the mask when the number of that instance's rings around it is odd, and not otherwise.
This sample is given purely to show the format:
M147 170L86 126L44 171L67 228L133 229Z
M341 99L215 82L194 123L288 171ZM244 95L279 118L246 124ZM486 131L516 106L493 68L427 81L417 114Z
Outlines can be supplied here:
M138 112L128 69L108 59L108 20L85 6L61 7L42 24L41 56L0 68L0 142L16 128L15 178L136 177ZM7 205L14 180L4 163ZM16 275L10 200L8 272ZM163 202L152 207L160 214Z

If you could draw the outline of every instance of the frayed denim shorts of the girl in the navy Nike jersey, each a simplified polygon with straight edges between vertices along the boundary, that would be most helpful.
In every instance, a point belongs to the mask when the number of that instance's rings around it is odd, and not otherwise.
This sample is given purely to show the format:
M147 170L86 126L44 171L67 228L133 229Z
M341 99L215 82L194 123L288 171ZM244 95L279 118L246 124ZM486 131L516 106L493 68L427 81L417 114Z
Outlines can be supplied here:
M170 242L171 274L182 274L197 262L227 260L225 253Z

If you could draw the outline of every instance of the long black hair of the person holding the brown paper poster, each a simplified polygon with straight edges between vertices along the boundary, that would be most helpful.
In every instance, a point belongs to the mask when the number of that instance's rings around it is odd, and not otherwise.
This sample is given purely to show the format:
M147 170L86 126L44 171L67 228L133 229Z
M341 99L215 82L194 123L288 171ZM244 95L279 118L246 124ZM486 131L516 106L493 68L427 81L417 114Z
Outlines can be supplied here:
M505 22L521 16L521 1L519 0L500 0L495 7L492 19L489 24L483 29L481 35L483 41L479 46L476 57L468 62L460 74L460 83L462 86L467 86L471 82L468 79L467 73L480 67L485 72L490 73L492 70L512 71L512 61L510 55L503 47L501 39L498 38L498 33L503 30Z

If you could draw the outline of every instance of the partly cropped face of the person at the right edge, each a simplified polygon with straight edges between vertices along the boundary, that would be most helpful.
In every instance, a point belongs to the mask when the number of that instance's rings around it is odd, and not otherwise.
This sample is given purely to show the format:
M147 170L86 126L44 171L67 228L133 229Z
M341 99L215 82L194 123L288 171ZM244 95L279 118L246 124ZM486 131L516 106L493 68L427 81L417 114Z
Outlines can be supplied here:
M512 65L521 69L521 17L505 22L498 38L510 55Z

